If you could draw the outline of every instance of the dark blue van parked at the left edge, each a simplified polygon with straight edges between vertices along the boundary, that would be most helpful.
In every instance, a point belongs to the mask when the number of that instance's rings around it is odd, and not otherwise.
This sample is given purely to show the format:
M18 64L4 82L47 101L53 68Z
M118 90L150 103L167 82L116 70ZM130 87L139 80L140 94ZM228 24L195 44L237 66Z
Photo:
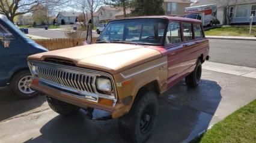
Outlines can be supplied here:
M28 38L10 20L0 14L0 87L10 84L14 95L28 99L38 95L29 87L32 75L26 58L47 51Z

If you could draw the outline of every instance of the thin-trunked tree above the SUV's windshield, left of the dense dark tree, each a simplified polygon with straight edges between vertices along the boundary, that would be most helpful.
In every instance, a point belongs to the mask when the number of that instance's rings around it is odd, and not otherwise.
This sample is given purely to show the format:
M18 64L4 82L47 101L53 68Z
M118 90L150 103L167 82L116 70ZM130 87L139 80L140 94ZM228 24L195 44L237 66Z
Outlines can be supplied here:
M109 0L105 2L106 5L111 5L114 7L121 7L124 11L124 17L126 17L126 10L130 7L130 0Z

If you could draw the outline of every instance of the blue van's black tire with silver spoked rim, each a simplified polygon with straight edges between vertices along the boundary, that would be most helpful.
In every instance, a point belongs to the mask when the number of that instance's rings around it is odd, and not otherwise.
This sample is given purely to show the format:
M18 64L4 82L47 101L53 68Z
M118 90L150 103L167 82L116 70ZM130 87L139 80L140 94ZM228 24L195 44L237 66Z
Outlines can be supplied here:
M23 70L13 75L13 77L10 80L11 91L14 93L14 95L16 95L20 99L34 98L39 94L39 92L30 89L30 87L27 87L27 84L29 83L26 83L26 88L29 89L29 91L32 90L33 92L31 91L26 93L25 87L23 89L20 87L20 82L22 82L22 79L29 76L31 76L31 80L32 80L32 75L30 71Z

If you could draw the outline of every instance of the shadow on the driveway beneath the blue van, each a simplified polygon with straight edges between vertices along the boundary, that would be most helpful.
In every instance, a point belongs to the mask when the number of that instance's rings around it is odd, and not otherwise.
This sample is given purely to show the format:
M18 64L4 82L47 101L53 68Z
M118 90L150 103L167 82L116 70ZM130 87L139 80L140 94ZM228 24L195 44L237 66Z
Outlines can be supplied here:
M18 99L8 86L0 87L0 121L40 107L45 101L44 96L26 100Z

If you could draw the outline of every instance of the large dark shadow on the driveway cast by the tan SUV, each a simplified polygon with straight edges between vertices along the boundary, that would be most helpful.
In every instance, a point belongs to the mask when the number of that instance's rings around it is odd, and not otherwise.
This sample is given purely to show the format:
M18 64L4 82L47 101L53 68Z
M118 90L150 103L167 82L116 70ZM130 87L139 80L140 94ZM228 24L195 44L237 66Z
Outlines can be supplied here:
M202 80L191 89L180 81L159 97L159 118L148 142L188 142L206 130L221 101L221 87ZM57 115L43 125L41 135L28 142L126 142L118 135L117 120L92 121L80 111L72 117Z

